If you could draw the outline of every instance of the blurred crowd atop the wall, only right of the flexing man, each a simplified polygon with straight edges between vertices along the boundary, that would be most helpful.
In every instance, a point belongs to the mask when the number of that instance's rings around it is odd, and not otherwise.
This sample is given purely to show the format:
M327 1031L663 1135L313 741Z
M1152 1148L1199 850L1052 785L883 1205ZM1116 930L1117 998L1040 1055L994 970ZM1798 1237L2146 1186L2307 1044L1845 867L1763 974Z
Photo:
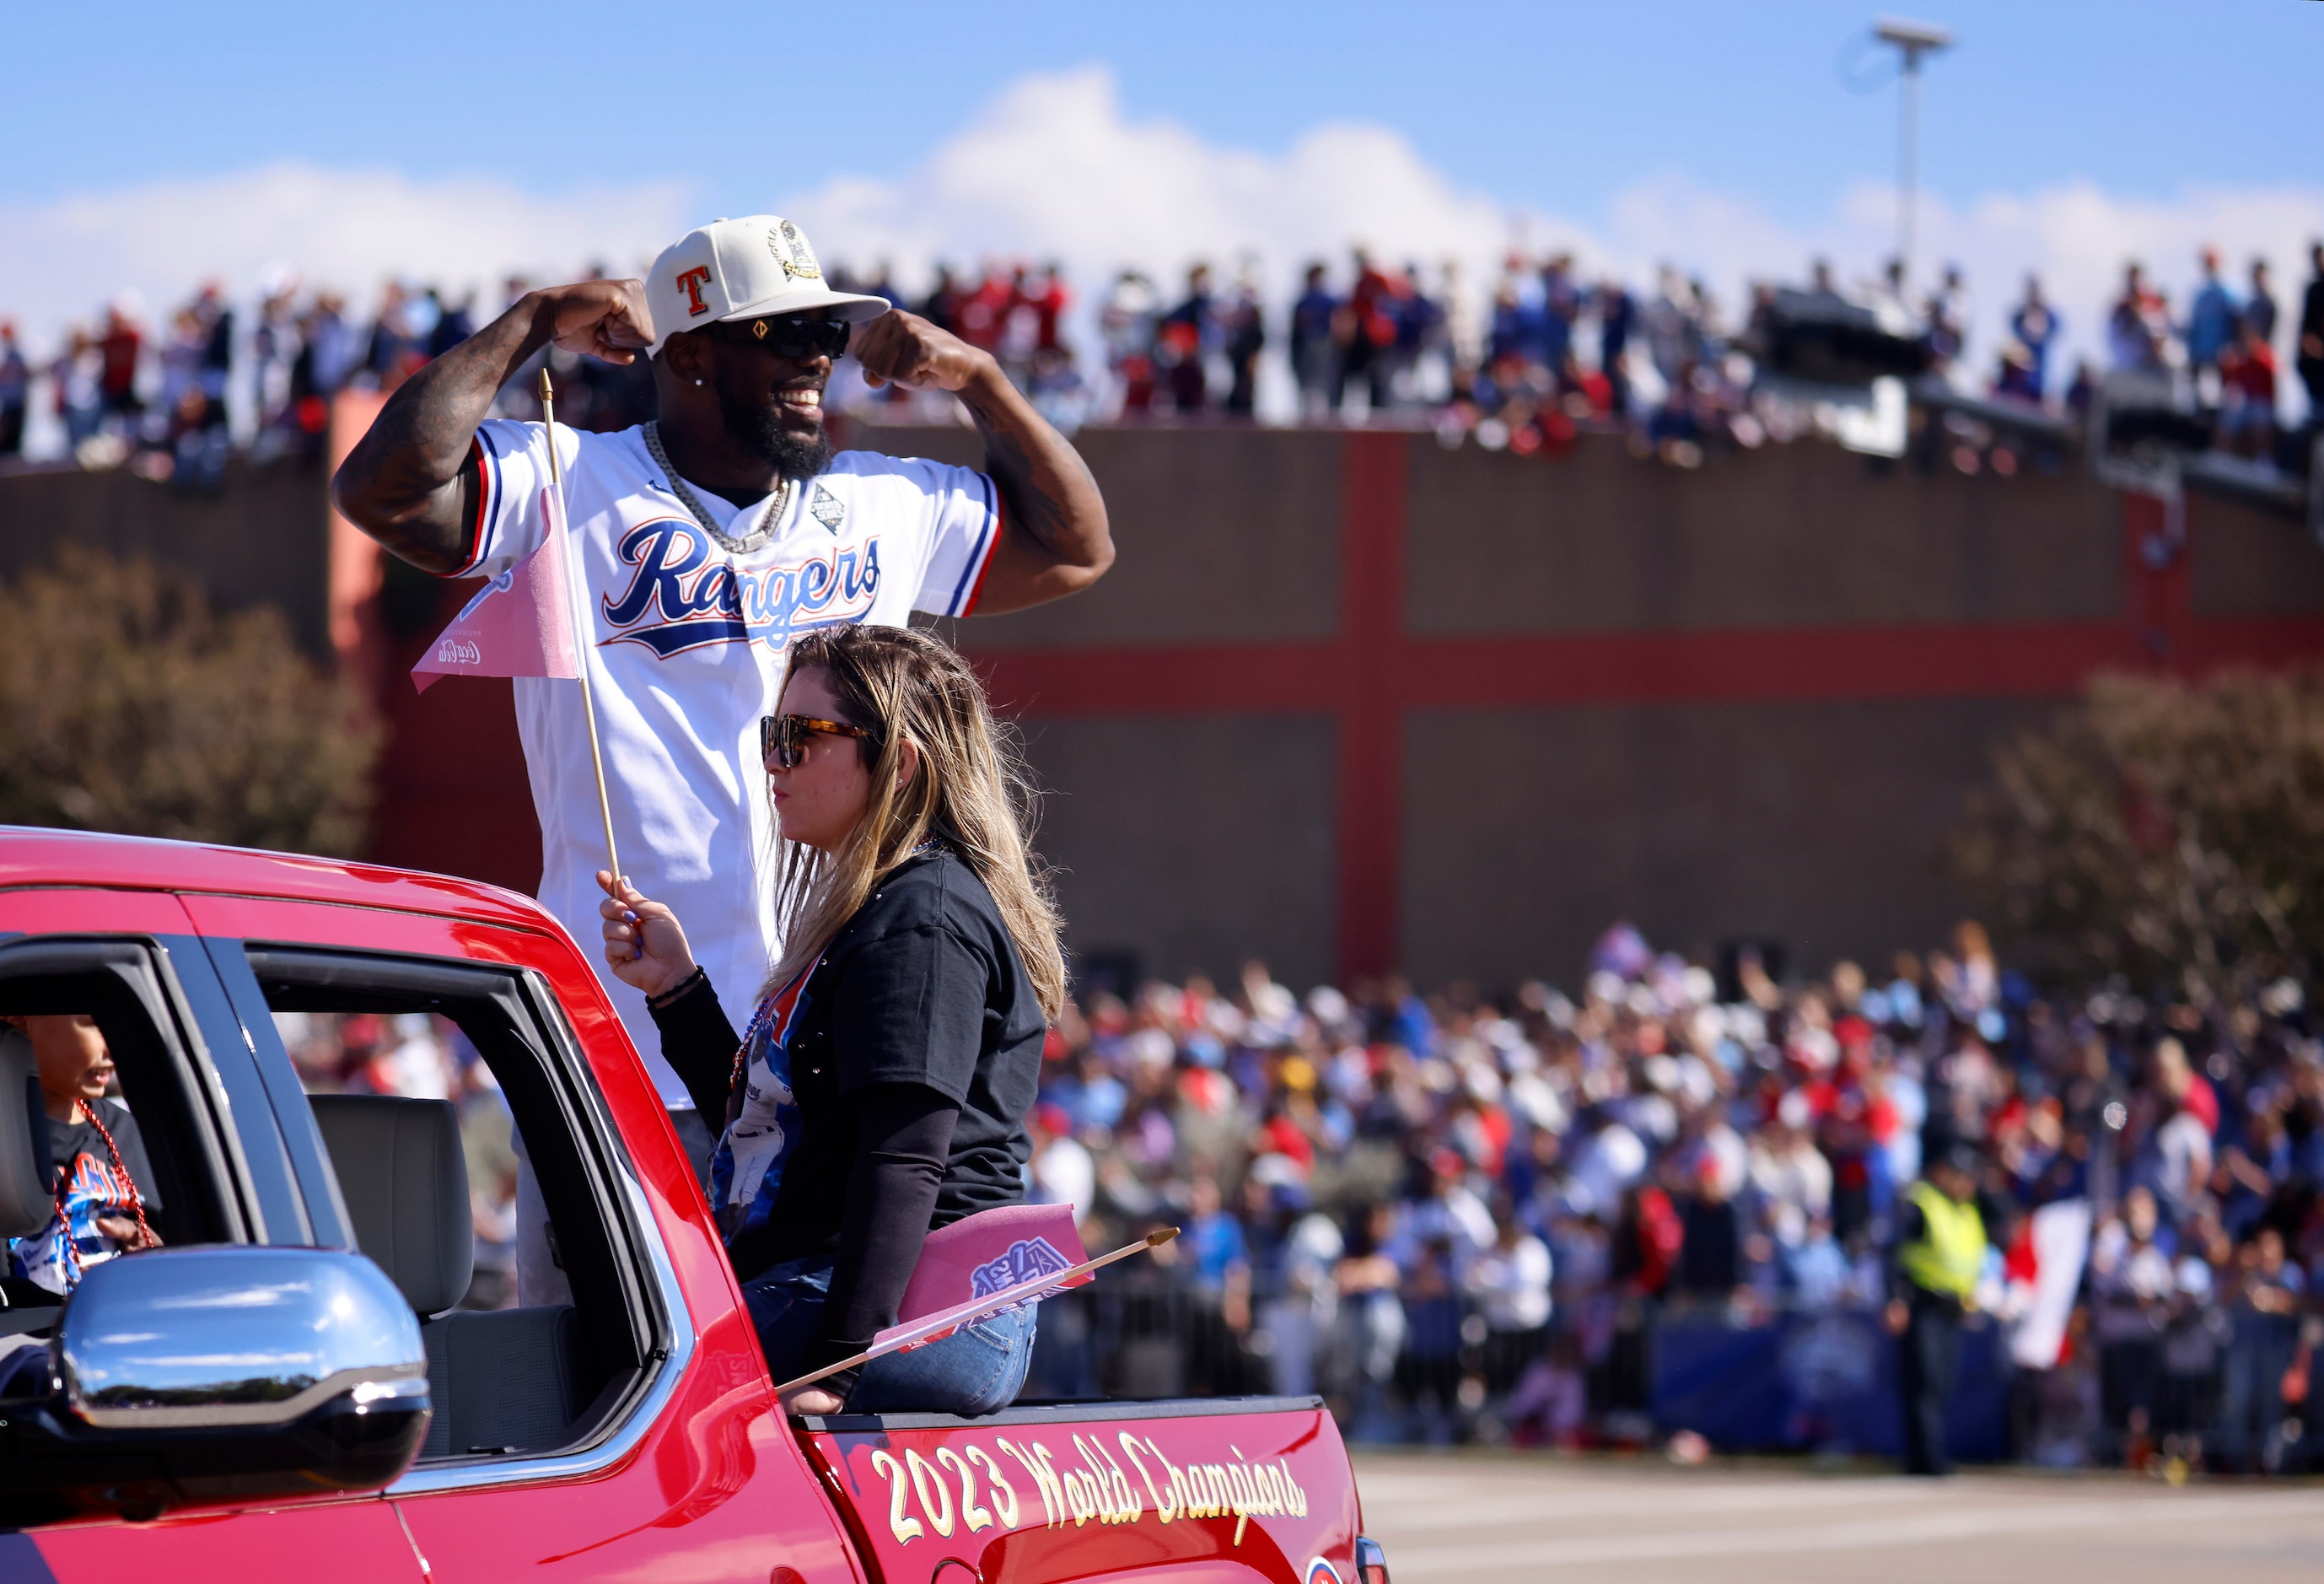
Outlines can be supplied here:
M2324 251L2291 337L2310 391L2324 395ZM2275 440L2282 321L2268 263L2250 261L2240 295L2219 279L2215 249L2203 279L2175 316L2140 265L2126 267L2124 295L2108 319L2108 370L2168 377L2182 372L2196 405L2219 416L2222 447L2268 456ZM1813 421L1796 391L1771 388L1759 356L1773 286L1752 286L1748 312L1731 321L1701 277L1664 267L1652 293L1606 274L1587 279L1571 254L1511 254L1485 295L1457 263L1390 267L1367 249L1334 279L1311 263L1299 293L1269 314L1255 258L1232 286L1208 263L1185 272L1178 293L1143 270L1122 270L1097 312L1102 370L1083 374L1064 335L1069 295L1060 265L988 265L976 281L939 267L937 286L913 302L885 267L858 291L913 307L992 349L1011 374L1069 428L1083 419L1250 419L1260 358L1283 351L1301 423L1390 416L1434 423L1448 444L1557 454L1587 428L1629 430L1638 449L1697 463L1708 449L1759 447ZM2082 412L2101 370L2087 361L2071 379L2052 368L2064 319L2038 277L2008 312L2008 335L1980 372L1968 356L1971 300L1961 270L1948 267L1927 293L1910 293L1894 261L1878 281L1843 291L1829 265L1810 267L1799 300L1827 298L1871 309L1880 328L1917 340L1931 372L1952 388L2031 409ZM2289 323L2289 321L2282 321ZM909 393L890 400L909 402ZM2013 470L2003 449L1971 454Z

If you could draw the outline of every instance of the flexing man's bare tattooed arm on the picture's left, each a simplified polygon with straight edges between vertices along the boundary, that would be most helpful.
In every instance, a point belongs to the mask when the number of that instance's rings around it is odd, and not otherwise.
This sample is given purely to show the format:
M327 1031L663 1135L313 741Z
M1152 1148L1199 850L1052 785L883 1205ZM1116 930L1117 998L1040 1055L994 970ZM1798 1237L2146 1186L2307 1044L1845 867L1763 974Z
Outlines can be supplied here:
M476 495L469 463L476 426L500 386L541 347L627 363L653 344L639 281L581 281L532 291L442 358L411 374L339 463L330 500L339 514L423 572L469 556Z

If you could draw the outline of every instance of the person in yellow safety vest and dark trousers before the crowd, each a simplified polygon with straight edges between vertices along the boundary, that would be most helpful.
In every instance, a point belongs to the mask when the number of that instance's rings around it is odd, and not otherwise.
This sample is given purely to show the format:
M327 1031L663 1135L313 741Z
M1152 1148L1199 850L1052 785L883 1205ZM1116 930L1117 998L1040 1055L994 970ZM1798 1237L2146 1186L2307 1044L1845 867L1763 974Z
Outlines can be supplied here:
M1950 1475L1945 1410L1961 1356L1961 1317L1978 1307L1985 1219L1971 1144L1952 1144L1903 1193L1889 1249L1887 1328L1896 1335L1896 1391L1903 1407L1908 1475Z

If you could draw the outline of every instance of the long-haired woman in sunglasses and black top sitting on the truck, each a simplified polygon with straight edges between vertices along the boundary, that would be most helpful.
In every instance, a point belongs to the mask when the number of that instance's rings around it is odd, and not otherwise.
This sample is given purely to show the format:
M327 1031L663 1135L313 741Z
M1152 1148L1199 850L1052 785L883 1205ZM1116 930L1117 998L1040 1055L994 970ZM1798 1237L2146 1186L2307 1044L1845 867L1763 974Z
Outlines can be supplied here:
M820 628L792 642L779 709L760 735L788 944L746 1037L679 919L625 877L597 884L607 961L646 991L702 1114L730 1116L727 1256L781 1382L895 1326L932 1228L1023 1200L1064 956L1025 777L957 654L911 628ZM1004 1310L788 1407L997 1412L1032 1335L1030 1307Z

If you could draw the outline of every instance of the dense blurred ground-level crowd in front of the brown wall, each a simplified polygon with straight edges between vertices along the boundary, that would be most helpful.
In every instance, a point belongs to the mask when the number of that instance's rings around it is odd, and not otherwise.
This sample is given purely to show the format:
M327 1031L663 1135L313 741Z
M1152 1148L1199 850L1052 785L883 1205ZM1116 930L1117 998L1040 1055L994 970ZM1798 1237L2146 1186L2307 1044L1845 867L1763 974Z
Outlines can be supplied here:
M281 1023L309 1089L462 1107L472 1303L511 1303L509 1121L458 1030ZM1783 984L1750 949L1713 970L1615 926L1578 998L1294 996L1250 963L1083 989L1032 1137L1034 1196L1092 1249L1183 1228L1043 1307L1043 1393L1322 1391L1369 1440L1645 1442L1678 1428L1652 1417L1659 1328L1875 1326L1901 1193L1966 1140L1975 1323L2029 1323L2036 1212L2087 1207L2064 1342L2013 1386L2017 1456L2315 1458L2324 1047L2291 982L2201 1009L2047 998L1975 926Z

